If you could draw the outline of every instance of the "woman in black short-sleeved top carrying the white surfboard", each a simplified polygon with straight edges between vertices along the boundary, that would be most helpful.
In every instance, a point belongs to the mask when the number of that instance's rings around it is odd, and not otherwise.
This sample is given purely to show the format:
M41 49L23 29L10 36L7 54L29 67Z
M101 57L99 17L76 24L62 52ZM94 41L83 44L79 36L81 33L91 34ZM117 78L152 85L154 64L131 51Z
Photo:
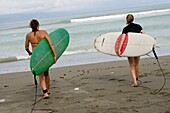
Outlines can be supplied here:
M134 21L134 16L132 14L128 14L126 17L127 26L124 27L123 31L122 31L123 37L122 37L122 40L121 40L121 43L119 46L118 54L120 53L120 49L124 42L125 35L128 32L144 33L143 28L139 24L133 23L133 21ZM138 37L136 37L136 38L138 38ZM128 57L134 87L138 86L137 81L138 81L138 72L139 72L139 60L140 60L140 56Z

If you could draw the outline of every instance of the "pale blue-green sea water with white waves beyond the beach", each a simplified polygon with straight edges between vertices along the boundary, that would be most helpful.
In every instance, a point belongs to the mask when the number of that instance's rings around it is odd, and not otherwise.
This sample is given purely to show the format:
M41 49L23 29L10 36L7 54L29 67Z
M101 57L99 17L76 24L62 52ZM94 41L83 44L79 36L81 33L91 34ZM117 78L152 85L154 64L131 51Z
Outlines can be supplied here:
M97 36L107 32L121 32L128 13L135 16L146 34L156 38L158 56L170 55L170 5L113 10L95 14L69 17L40 18L40 29L48 33L65 28L70 34L70 43L62 57L52 67L97 63L126 58L109 56L95 50ZM0 16L0 18L2 18ZM10 20L10 19L9 19ZM0 19L2 21L2 19ZM4 21L0 23L0 74L29 71L29 58L25 51L25 37L30 20ZM31 47L31 46L30 46ZM31 49L31 48L30 48ZM153 56L152 53L150 56Z

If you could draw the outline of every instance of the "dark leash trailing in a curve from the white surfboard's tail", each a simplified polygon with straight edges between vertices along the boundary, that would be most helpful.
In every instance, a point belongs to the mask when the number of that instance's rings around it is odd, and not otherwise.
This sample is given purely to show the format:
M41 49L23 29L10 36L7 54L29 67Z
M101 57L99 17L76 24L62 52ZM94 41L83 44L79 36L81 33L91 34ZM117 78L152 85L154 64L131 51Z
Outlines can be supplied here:
M161 70L161 72L162 72L162 75L163 75L163 77L164 77L164 83L163 83L162 87L161 87L157 92L151 92L151 94L156 95L156 94L160 93L161 90L164 88L164 86L165 86L165 84L166 84L166 77L165 77L164 71L163 71L163 69L162 69L162 67L161 67L161 65L160 65L160 62L159 62L159 59L158 59L158 56L157 56L157 54L156 54L156 51L155 51L155 48L154 48L154 47L152 48L152 51L153 51L153 54L154 54L154 56L155 56L155 58L156 58L156 60L157 60L157 62L158 62L158 66L159 66L159 68L160 68L160 70Z

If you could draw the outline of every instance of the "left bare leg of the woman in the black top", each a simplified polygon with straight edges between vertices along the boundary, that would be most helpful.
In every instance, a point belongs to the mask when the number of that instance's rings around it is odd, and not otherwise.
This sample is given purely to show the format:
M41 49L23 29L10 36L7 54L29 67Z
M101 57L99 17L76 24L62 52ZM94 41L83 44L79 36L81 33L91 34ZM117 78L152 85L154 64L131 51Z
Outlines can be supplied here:
M128 57L128 61L129 61L129 65L130 65L130 71L131 71L131 74L132 74L132 79L133 79L134 86L137 86L138 84L137 84L137 81L136 81L134 57Z

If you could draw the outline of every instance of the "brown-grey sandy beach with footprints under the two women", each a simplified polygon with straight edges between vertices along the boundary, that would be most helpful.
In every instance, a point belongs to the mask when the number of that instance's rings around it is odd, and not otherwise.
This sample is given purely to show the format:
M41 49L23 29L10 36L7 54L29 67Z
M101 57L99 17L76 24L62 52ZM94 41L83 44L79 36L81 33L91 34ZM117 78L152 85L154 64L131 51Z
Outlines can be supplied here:
M170 113L170 56L141 59L139 87L132 87L127 61L50 70L51 94L33 113ZM37 77L38 79L38 77ZM42 92L38 85L37 101ZM31 72L0 75L0 113L30 113L35 98Z

